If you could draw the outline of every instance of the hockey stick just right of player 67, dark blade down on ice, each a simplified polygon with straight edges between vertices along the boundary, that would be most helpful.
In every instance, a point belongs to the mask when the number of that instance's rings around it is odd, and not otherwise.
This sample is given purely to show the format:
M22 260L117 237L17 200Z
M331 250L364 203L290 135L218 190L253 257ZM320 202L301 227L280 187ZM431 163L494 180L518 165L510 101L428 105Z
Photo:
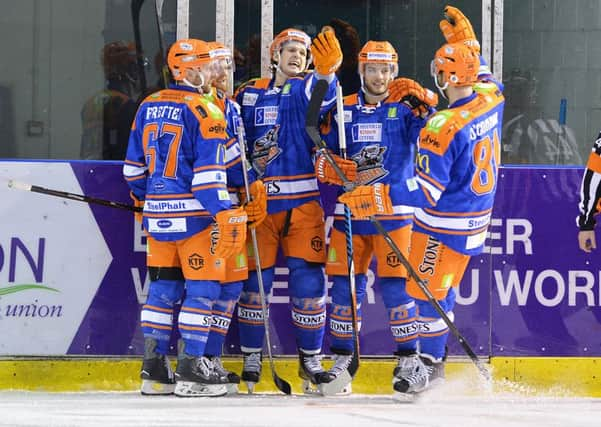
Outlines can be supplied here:
M248 159L246 158L246 140L244 134L244 126L238 126L238 142L240 144L240 158L242 160L242 176L244 178L244 188L246 197L250 200L250 185L248 184ZM263 272L261 270L261 259L259 257L259 244L257 243L257 231L254 228L250 229L250 237L253 244L255 255L255 268L257 272L257 281L259 282L259 295L261 296L261 313L263 314L263 327L265 328L265 342L267 343L267 356L269 357L269 367L271 368L271 376L278 390L284 394L291 394L292 388L290 384L283 380L275 370L275 362L271 354L271 336L269 334L269 315L267 313L267 299L265 297L265 287L263 285Z

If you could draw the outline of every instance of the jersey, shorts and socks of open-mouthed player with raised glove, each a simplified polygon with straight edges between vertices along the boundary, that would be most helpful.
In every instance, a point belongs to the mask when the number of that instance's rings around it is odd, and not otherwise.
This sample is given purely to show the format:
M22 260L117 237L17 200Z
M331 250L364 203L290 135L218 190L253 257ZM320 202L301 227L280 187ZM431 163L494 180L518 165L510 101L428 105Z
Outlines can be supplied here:
M252 168L267 188L267 219L257 227L264 290L269 294L276 255L282 247L289 269L289 294L296 343L300 352L321 351L325 328L325 227L313 163L313 142L305 131L305 115L317 76L288 78L281 87L272 79L253 80L239 89L236 100L246 130ZM325 114L335 103L332 76L321 105ZM260 352L265 331L258 305L257 273L249 256L249 279L238 305L240 346ZM243 373L244 379L244 373Z

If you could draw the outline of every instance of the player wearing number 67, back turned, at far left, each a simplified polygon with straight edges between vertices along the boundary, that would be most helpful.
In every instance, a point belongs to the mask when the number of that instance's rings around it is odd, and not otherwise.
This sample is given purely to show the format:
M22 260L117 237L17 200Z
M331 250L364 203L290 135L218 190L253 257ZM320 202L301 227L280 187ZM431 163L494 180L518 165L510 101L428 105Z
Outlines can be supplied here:
M220 396L226 381L205 356L212 308L226 260L242 251L247 214L227 191L226 123L202 93L219 72L207 43L176 41L167 63L174 83L140 105L123 167L132 197L144 206L148 299L142 308L143 394ZM167 357L174 304L181 341L175 378ZM175 382L175 384L174 384Z

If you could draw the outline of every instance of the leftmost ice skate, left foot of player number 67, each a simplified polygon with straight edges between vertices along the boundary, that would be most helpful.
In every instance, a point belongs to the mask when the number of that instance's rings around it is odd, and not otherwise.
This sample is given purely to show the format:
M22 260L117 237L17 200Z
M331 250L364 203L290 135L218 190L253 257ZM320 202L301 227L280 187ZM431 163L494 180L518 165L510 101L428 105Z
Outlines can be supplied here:
M142 362L142 386L140 392L143 395L165 395L173 394L175 390L175 379L169 365L167 356L155 352L157 342L151 338L144 340L144 361Z

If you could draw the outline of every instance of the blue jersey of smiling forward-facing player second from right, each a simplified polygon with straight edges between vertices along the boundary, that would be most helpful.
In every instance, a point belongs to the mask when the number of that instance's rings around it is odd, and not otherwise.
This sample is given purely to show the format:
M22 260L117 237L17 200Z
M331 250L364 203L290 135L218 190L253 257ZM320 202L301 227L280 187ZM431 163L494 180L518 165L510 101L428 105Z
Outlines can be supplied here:
M337 110L332 110L322 126L328 148L338 154ZM344 128L347 157L357 163L357 185L376 182L390 184L391 191L404 190L405 181L413 176L417 138L425 119L415 117L403 103L383 101L367 105L363 93L344 98ZM340 188L338 194L342 193ZM413 208L395 204L393 215L378 215L386 230L411 223ZM334 227L344 231L344 205L336 203ZM353 233L378 234L368 219L353 219Z

